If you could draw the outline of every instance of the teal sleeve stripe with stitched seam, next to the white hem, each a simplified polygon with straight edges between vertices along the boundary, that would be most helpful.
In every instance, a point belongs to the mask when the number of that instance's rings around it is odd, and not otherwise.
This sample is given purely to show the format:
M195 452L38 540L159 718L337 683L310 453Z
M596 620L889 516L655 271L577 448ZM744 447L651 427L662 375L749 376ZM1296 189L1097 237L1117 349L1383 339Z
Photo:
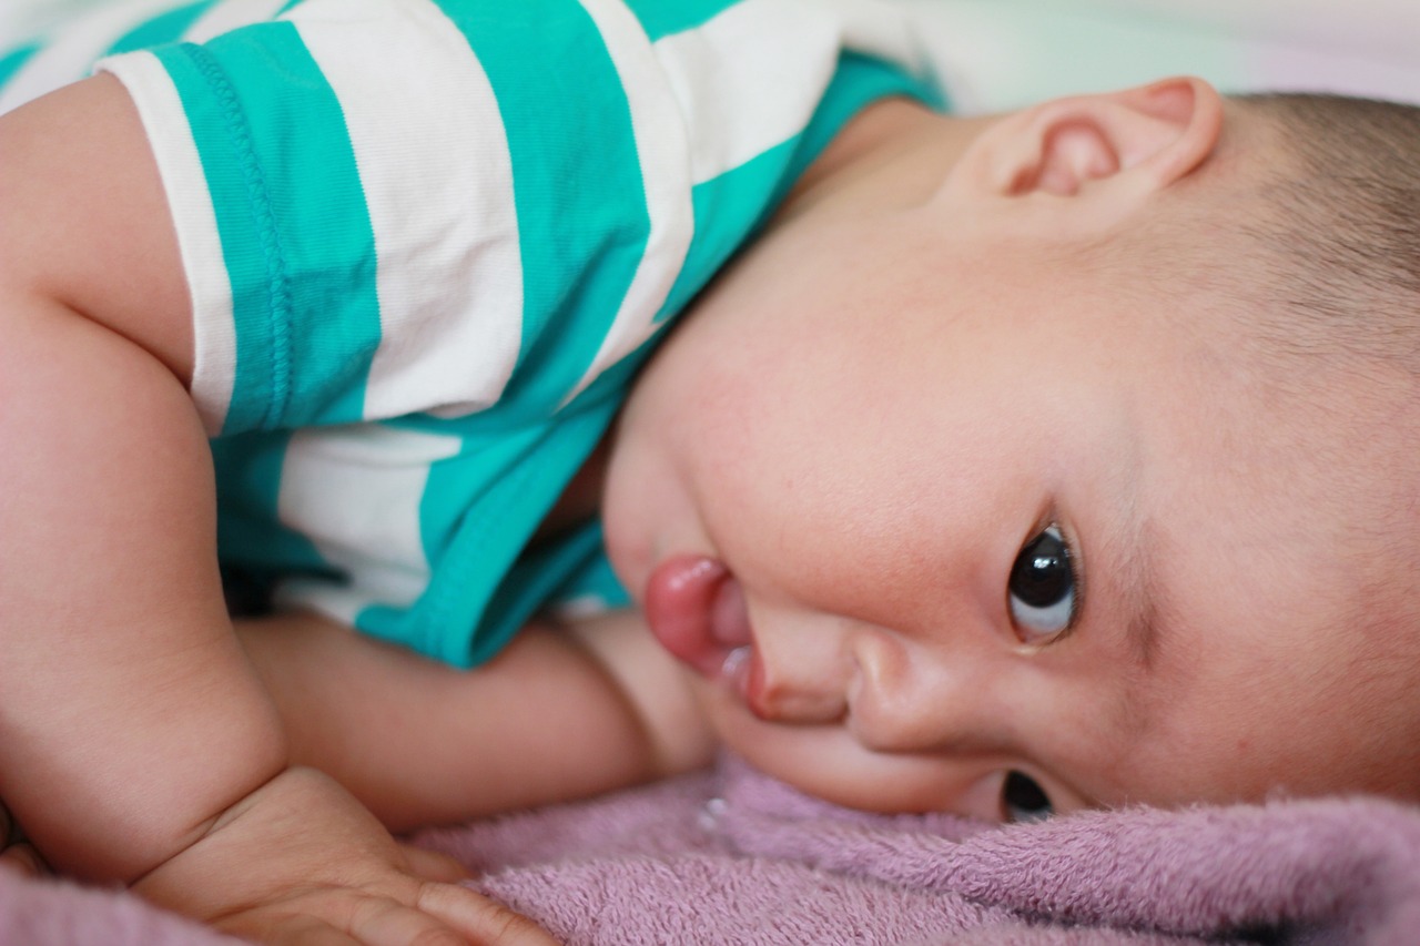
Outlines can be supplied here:
M290 23L166 47L193 121L237 334L223 433L362 418L379 347L375 240L345 119ZM192 85L196 72L200 84ZM185 91L186 89L186 91Z

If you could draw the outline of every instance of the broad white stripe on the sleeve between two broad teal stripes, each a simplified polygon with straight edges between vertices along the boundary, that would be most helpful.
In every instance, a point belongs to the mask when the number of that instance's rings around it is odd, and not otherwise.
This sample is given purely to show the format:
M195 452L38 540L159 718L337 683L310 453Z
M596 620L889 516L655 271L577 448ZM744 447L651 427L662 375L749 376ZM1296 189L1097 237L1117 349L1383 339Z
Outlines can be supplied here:
M427 0L307 0L291 21L345 112L375 232L365 416L488 406L517 364L523 266L487 75Z

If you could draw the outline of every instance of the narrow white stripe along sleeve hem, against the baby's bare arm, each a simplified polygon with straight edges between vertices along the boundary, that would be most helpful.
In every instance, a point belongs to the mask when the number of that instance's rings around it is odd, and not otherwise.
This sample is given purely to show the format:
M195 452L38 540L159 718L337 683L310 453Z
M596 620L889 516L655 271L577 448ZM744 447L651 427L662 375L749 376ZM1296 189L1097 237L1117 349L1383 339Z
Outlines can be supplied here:
M138 107L168 193L193 318L192 398L209 436L216 436L231 403L237 332L231 314L231 280L222 256L217 214L202 170L178 88L151 53L102 60L98 67L124 82Z

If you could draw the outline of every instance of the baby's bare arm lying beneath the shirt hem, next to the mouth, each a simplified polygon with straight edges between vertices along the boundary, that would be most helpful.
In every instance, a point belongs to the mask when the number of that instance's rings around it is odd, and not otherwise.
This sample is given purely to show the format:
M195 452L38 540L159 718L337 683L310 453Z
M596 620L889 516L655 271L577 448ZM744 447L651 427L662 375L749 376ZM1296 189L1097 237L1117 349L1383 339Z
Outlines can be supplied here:
M473 670L308 614L239 632L295 760L395 831L581 798L713 751L682 670L632 612L534 624Z

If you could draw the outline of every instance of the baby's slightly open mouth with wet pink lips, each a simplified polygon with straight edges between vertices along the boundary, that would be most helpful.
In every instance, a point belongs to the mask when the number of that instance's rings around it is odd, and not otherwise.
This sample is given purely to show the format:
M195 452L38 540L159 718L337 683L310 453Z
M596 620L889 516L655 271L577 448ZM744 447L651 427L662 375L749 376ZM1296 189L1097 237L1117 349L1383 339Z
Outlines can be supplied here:
M744 591L723 562L704 555L667 558L646 581L645 609L666 651L748 696L754 635Z

